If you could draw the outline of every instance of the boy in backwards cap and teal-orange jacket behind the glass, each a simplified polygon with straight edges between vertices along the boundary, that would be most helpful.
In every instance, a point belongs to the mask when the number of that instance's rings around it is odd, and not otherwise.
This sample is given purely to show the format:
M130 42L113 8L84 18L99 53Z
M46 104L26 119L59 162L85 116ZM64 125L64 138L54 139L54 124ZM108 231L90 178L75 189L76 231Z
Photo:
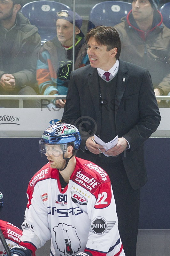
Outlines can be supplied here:
M42 95L66 95L73 66L73 12L57 13L57 36L40 49L36 78ZM75 12L75 69L89 64L87 44L81 32L82 19ZM65 100L52 100L64 108Z

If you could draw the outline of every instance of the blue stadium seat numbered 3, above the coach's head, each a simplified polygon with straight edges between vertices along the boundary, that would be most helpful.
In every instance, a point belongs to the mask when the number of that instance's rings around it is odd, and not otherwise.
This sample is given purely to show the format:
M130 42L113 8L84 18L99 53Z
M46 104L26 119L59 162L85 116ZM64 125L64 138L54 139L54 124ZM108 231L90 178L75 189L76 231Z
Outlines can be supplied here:
M126 16L132 9L132 4L122 1L106 1L93 6L90 11L89 20L95 26L111 26L121 22L121 18Z

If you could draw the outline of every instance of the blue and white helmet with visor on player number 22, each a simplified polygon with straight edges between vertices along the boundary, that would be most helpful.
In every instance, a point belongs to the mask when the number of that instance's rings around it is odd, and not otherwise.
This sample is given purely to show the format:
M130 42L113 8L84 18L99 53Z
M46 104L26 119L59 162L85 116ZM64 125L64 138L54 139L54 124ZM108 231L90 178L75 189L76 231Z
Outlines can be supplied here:
M57 122L50 125L42 134L42 140L39 142L40 152L46 153L47 144L60 144L65 153L67 144L70 142L73 143L73 150L76 152L81 142L79 130L73 124Z

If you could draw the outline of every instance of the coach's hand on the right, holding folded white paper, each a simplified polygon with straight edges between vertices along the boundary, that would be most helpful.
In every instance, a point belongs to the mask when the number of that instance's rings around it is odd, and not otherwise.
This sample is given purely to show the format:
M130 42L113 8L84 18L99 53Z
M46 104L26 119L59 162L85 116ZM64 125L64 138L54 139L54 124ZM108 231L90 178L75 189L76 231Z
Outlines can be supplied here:
M118 156L122 153L128 145L128 142L124 138L118 138L118 143L113 147L108 149L105 154L108 156Z

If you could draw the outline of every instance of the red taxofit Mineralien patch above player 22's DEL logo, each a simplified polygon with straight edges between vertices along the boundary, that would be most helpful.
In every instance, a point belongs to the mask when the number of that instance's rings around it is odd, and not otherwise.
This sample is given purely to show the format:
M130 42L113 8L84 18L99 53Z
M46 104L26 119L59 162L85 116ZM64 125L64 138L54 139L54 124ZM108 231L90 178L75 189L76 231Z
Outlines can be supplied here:
M81 187L89 190L92 194L100 186L100 182L98 182L98 180L81 169L78 169L77 172L75 172L72 180Z

